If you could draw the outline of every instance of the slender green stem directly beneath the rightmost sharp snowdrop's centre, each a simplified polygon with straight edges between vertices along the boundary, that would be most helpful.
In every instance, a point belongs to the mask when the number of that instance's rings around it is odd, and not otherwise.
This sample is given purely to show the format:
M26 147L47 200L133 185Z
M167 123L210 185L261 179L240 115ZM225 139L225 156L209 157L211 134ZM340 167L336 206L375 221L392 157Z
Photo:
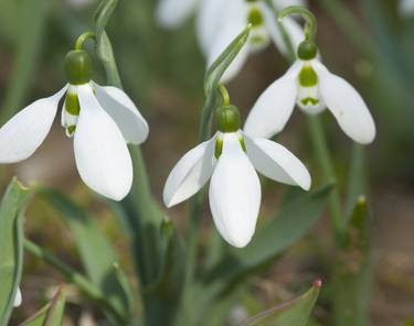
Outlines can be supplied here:
M323 178L326 182L337 182L332 159L329 153L329 148L323 132L323 127L320 121L320 117L309 116L308 124L311 142L314 144L316 155L322 170ZM340 235L342 232L342 213L338 185L336 185L330 193L329 206L332 226L336 231L337 239L340 240Z

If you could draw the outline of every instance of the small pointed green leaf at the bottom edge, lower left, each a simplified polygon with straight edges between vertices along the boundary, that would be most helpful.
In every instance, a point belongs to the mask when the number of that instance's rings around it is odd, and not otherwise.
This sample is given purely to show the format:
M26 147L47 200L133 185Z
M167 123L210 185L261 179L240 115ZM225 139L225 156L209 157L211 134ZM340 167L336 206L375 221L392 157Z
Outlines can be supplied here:
M52 301L20 326L61 326L65 311L66 294L61 286Z

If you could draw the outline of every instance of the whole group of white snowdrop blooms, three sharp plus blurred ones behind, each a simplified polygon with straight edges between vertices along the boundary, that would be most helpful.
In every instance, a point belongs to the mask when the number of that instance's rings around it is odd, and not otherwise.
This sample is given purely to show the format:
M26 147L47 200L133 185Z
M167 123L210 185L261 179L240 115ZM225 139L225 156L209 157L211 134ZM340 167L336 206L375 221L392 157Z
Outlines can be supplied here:
M277 4L282 2L278 0ZM247 23L252 24L248 44L231 66L227 78L234 76L247 53L267 44L262 41L273 39L278 44L282 37L276 33L274 17L267 18L269 9L256 1L179 0L180 7L168 10L171 3L176 0L164 0L159 9L160 19L168 25L177 24L198 6L200 40L210 63ZM262 191L256 171L277 182L310 188L306 166L287 149L268 140L283 130L295 105L309 115L328 108L355 142L367 144L375 137L374 121L359 93L321 64L307 30L304 33L289 19L284 24L290 35L296 35L296 63L259 96L244 128L237 108L230 105L221 86L224 105L215 112L217 132L177 163L163 191L164 204L171 207L211 180L209 198L216 228L229 243L240 248L251 241L259 213ZM98 194L120 200L132 184L127 144L142 143L149 129L121 89L102 87L91 79L89 66L86 52L68 53L68 84L55 95L31 104L0 129L0 163L19 162L33 154L46 138L64 98L62 126L74 138L82 180Z

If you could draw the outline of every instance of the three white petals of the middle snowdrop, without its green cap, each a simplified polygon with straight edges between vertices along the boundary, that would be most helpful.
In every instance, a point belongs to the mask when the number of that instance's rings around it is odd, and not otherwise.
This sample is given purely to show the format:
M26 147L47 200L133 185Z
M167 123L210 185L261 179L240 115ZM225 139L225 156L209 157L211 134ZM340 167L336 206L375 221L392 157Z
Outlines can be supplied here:
M172 169L163 189L167 207L198 193L210 182L210 207L214 224L230 244L247 246L256 227L263 175L304 189L310 187L305 165L284 146L251 138L242 130L217 132L188 152Z

